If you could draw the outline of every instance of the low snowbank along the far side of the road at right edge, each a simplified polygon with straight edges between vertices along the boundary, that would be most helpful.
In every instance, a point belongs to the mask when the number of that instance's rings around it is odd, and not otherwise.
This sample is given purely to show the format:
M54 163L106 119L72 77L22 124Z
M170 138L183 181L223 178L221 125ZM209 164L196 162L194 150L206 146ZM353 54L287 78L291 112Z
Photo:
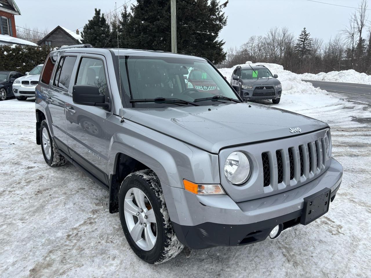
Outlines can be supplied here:
M320 72L316 75L313 73L303 73L299 75L301 79L318 80L318 81L332 81L332 82L348 82L359 84L370 84L371 76L365 73L359 73L355 70L341 70L339 72Z

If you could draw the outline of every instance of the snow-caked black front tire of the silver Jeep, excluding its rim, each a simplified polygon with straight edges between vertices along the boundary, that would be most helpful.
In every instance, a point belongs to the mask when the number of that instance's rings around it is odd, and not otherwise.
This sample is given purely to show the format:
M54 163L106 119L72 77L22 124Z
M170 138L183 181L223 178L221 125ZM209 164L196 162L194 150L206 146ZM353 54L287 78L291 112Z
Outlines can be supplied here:
M139 188L147 196L156 218L157 239L150 251L140 248L133 240L125 221L125 195L133 188ZM119 191L119 215L121 226L131 249L139 258L149 264L160 264L175 257L184 248L178 241L162 196L162 188L156 174L150 170L142 170L128 175L121 184ZM139 220L138 220L139 221Z

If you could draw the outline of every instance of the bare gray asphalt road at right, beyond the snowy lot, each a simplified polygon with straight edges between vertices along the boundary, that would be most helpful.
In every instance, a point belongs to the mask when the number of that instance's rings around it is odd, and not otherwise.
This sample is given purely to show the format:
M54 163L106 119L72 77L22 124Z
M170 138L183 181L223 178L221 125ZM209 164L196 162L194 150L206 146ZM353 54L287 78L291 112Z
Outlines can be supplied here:
M322 90L339 93L348 97L348 99L371 104L371 85L315 80L303 81L312 83L314 87L319 87Z

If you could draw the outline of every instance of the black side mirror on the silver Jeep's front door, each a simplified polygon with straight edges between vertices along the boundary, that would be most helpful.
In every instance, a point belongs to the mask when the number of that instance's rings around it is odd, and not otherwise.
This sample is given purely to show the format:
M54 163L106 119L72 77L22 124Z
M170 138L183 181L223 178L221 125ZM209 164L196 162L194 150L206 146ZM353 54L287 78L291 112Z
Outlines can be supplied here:
M99 94L98 87L92 85L74 85L72 89L73 103L108 107L109 103L105 102L105 96Z

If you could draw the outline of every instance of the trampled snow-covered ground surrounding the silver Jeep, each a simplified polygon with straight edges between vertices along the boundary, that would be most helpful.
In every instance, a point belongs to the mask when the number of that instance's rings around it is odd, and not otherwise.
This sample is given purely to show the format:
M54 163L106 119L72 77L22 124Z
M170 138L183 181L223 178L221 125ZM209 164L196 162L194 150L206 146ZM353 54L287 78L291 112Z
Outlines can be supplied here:
M0 102L0 277L371 277L371 107L298 92L278 105L328 122L344 176L329 212L278 239L182 252L148 265L130 249L108 193L72 165L50 168L35 143L34 103Z

